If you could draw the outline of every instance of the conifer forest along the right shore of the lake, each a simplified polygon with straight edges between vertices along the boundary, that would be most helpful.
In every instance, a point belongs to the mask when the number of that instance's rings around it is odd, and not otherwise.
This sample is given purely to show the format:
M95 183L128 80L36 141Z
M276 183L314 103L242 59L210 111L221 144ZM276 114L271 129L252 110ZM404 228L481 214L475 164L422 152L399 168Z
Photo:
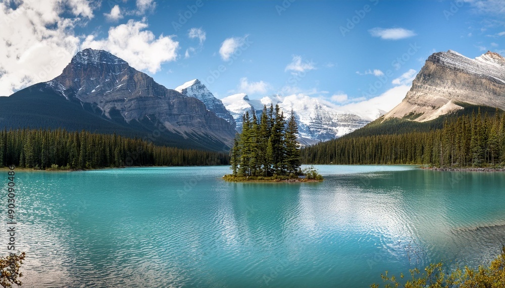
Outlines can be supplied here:
M505 113L472 113L429 132L342 137L301 150L313 164L429 164L481 167L505 163Z

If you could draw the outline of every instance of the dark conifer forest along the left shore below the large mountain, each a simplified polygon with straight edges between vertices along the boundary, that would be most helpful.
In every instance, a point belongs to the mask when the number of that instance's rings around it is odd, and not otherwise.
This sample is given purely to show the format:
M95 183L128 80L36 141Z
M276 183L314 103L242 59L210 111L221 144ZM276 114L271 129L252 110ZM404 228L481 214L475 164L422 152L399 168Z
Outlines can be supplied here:
M85 169L228 164L225 153L155 146L139 138L66 130L0 131L0 167ZM58 166L56 166L58 165Z

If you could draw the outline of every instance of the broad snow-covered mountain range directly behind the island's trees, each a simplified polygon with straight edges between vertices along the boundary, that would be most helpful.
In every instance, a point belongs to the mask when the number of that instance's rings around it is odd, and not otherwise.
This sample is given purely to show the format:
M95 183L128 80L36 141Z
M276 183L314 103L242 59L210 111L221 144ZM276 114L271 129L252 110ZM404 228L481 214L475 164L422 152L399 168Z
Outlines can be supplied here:
M285 116L289 116L293 110L298 122L298 141L303 145L335 139L369 123L355 114L338 111L329 104L303 95L274 95L261 100L250 100L245 93L240 93L223 98L222 101L235 118L239 131L245 111L254 109L257 114L261 114L263 105L270 104L279 104Z

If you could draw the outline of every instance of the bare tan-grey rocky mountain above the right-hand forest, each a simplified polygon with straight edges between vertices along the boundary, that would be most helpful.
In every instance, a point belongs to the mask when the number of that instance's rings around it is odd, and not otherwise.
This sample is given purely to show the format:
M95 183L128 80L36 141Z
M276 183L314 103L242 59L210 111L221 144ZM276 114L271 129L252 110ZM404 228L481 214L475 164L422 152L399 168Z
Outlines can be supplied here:
M470 59L458 52L434 53L412 83L405 98L384 115L433 120L463 109L463 104L505 109L505 59L494 52Z

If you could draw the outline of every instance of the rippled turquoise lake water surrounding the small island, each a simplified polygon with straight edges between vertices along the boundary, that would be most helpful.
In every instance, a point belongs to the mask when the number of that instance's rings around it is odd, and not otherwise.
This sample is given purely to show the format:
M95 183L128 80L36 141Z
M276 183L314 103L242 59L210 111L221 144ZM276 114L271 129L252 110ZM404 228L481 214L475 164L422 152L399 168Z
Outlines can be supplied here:
M368 287L384 270L488 263L505 243L502 172L316 167L322 183L226 183L224 166L18 171L23 286Z

